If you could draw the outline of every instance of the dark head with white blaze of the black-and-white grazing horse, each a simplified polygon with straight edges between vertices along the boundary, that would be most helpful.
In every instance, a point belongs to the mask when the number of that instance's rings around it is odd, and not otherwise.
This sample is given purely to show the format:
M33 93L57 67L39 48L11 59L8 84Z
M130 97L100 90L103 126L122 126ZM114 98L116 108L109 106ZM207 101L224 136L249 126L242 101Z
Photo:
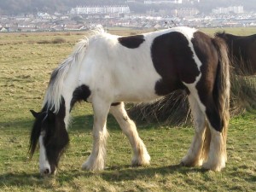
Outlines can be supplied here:
M69 142L63 114L55 114L50 110L39 113L31 110L31 113L35 117L30 137L31 157L39 143L40 173L54 174L61 154Z

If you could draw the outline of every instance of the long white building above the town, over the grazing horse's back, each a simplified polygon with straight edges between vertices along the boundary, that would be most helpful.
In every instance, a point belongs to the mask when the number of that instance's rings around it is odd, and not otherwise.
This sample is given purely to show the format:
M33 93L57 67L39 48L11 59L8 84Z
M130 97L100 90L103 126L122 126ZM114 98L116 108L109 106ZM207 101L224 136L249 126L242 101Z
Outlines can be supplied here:
M130 8L126 5L120 6L85 6L71 9L73 15L90 15L90 14L129 14Z

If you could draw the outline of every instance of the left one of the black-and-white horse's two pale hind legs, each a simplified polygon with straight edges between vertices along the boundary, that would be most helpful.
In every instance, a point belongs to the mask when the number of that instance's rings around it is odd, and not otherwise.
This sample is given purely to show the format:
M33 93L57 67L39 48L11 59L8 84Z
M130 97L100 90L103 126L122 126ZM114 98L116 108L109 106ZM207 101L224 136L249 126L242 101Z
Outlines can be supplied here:
M189 105L195 124L195 136L188 153L183 157L181 164L184 166L201 166L203 163L202 150L206 131L206 117L202 112L195 96L189 94Z

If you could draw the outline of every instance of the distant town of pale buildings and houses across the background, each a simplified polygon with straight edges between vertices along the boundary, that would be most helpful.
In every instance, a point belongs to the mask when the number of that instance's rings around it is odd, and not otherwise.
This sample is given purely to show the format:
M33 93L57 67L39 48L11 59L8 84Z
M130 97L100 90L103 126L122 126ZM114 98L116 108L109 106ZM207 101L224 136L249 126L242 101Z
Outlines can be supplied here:
M182 1L144 1L144 3L179 4ZM77 6L66 14L38 12L33 15L1 15L0 32L83 31L98 24L105 27L155 29L173 26L253 27L256 26L256 13L247 12L242 5L218 7L208 14L201 13L193 7L148 9L144 13L134 13L127 4Z

